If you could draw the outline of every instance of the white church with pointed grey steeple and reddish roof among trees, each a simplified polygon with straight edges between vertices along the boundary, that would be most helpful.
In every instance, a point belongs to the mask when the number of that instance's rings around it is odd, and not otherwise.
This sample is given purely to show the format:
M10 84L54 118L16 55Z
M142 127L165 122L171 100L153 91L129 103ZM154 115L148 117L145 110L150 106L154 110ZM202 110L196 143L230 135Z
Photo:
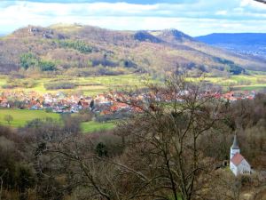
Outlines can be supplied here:
M240 154L239 142L236 135L230 151L230 169L235 176L251 173L250 164L248 164L244 156Z

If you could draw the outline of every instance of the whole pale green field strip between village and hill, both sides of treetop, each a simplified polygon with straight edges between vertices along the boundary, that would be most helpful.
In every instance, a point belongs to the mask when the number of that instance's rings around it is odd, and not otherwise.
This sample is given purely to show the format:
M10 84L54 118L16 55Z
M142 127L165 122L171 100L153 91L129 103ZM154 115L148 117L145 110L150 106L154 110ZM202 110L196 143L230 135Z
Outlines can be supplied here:
M74 76L57 76L57 77L26 77L16 79L20 86L12 89L4 89L4 85L13 83L9 76L0 76L0 92L1 91L25 91L38 93L56 93L59 91L66 93L81 93L83 95L95 96L99 93L108 92L110 90L120 90L125 88L144 87L149 79L148 76L140 76L136 74L121 76L90 76L90 77L74 77ZM195 80L195 78L188 78ZM151 80L151 79L150 79ZM239 75L230 77L212 77L207 75L205 81L212 84L219 84L226 90L261 90L266 88L266 75L251 73L250 75ZM74 89L58 89L47 90L44 85L56 82L72 83L76 86ZM151 82L151 81L150 81ZM152 81L155 82L154 80ZM34 83L30 87L23 86L25 83Z

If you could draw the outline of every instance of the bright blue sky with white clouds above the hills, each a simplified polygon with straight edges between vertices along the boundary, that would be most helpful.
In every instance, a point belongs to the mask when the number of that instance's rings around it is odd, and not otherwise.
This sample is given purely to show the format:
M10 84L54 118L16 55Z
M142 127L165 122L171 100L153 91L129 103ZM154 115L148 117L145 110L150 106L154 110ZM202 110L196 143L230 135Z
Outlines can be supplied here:
M27 25L79 23L118 30L176 28L191 36L266 33L254 0L0 0L0 35Z

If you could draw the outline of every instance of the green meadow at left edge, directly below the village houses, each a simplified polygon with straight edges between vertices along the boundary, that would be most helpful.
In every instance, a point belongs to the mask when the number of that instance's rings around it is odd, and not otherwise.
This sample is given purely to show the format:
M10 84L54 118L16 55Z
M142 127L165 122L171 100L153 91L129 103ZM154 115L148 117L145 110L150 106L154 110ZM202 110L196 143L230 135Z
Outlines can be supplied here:
M4 116L10 115L13 120L8 124L4 120ZM51 117L53 119L60 119L60 115L56 113L46 113L43 110L27 110L27 109L0 109L0 124L10 125L12 127L20 127L27 124L28 121L36 118Z

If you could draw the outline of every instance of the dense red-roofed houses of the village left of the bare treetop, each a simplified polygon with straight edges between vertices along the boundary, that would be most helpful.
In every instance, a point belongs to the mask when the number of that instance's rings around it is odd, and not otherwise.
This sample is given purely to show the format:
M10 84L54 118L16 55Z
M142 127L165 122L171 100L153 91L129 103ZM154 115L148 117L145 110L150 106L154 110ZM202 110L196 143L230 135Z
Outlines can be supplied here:
M113 97L120 98L119 94ZM0 93L0 108L49 110L55 113L77 113L82 109L90 108L103 115L118 111L132 111L128 104L116 102L107 94L98 94L92 98L76 94L66 95L63 92L43 95L36 92L2 92Z

